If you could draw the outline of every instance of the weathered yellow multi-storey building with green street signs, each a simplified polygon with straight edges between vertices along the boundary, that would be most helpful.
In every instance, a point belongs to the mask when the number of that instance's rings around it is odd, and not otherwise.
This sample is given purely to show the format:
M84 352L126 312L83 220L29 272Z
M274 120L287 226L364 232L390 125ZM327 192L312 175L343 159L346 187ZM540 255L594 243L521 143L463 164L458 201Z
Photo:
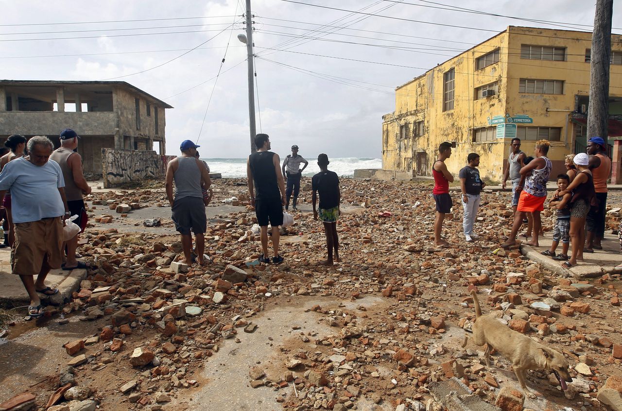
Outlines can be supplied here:
M397 87L383 116L383 169L431 175L439 144L451 141L451 172L476 152L482 177L500 181L516 136L527 155L548 139L552 175L565 172L565 155L585 150L591 44L589 32L509 26ZM610 114L622 119L622 36L611 45Z

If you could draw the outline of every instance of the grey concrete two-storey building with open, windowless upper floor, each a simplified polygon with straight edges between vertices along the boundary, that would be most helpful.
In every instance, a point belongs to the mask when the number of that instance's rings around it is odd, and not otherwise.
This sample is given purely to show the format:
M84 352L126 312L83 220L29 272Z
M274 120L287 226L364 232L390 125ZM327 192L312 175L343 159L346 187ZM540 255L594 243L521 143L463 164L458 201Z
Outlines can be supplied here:
M0 80L0 143L11 134L48 136L65 128L81 137L86 173L102 172L102 149L165 154L165 114L172 108L125 81Z

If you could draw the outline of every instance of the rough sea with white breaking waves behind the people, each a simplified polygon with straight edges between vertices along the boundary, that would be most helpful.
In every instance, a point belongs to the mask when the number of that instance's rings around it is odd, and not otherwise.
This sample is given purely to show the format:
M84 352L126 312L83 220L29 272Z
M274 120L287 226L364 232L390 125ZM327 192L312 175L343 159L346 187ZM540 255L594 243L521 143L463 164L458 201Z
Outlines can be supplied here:
M309 162L302 175L310 177L315 173L320 172L320 167L317 166L317 156L305 157ZM246 159L202 159L210 166L210 172L221 173L225 178L231 177L246 177ZM352 177L354 170L356 169L381 169L383 162L381 159L366 159L356 157L342 157L329 159L330 164L328 170L334 171L340 177ZM281 165L283 159L281 159ZM301 165L302 168L302 165Z

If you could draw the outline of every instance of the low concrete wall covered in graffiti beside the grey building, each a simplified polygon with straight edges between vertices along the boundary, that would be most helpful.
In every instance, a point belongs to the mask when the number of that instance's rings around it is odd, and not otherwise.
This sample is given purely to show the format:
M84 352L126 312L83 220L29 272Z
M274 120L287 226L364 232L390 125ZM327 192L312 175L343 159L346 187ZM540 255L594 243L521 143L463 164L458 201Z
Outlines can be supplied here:
M104 187L164 177L165 163L169 162L167 157L171 156L154 151L101 149Z

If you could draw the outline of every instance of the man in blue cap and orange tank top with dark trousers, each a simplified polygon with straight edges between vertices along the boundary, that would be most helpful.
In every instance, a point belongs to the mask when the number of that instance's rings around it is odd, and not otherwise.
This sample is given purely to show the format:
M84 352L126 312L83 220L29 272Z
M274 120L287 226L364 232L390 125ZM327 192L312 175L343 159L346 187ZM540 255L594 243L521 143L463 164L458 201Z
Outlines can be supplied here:
M605 206L607 204L607 178L611 175L611 159L607 156L605 140L592 137L587 143L587 154L590 155L590 170L594 179L594 190L598 208L590 208L585 219L585 247L583 252L601 250L600 242L605 236Z

